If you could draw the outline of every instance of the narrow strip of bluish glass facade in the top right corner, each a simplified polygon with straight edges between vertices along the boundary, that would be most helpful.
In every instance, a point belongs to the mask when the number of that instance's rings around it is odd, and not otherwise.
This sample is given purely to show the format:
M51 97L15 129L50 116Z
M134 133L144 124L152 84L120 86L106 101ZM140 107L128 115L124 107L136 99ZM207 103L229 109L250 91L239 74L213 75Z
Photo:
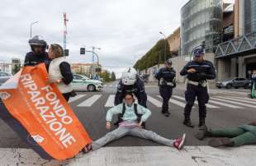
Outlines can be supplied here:
M256 32L256 1L244 1L244 34Z

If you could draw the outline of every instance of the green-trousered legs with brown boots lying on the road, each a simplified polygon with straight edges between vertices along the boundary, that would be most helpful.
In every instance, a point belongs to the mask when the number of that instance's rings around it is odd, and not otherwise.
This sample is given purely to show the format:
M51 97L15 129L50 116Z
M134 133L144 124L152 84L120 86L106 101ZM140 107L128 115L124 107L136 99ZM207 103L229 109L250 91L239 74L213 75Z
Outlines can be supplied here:
M203 140L208 136L220 136L220 138L211 139L208 145L212 147L218 146L240 146L256 143L256 122L248 125L242 125L235 128L225 128L222 130L199 131L197 139Z

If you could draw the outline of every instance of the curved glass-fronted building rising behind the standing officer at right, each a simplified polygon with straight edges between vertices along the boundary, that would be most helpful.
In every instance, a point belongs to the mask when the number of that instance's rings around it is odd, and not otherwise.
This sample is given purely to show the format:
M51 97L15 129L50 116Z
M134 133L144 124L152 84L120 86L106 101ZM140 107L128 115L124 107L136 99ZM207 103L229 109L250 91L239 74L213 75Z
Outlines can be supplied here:
M190 0L181 10L181 54L206 43L206 53L213 53L222 32L222 0Z

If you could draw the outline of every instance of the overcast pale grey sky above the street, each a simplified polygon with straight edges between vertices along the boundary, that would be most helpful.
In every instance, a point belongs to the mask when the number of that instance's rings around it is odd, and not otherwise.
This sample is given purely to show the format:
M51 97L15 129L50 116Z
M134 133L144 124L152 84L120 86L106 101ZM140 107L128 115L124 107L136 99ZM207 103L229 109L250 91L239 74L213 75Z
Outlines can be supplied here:
M102 67L121 71L132 66L163 36L180 25L180 9L188 0L2 0L0 5L0 61L25 58L32 35L48 44L63 44L63 12L67 13L67 48L71 62L92 62L92 54L79 55L79 48L97 50Z

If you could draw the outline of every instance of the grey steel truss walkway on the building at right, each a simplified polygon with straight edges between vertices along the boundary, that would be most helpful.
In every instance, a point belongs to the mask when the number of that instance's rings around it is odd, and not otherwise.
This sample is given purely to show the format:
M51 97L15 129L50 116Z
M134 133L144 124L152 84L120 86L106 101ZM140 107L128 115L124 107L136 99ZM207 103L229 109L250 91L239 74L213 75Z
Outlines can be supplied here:
M218 44L216 58L225 58L236 53L256 50L256 32Z

